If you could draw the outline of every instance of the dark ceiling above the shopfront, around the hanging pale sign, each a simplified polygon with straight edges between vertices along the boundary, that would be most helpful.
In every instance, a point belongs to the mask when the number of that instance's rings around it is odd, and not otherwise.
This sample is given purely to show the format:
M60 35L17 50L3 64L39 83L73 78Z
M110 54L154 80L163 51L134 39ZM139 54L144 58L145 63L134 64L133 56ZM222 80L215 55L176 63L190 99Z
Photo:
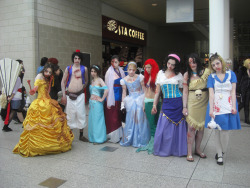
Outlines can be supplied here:
M116 9L157 26L187 25L190 23L167 24L166 0L101 0ZM153 7L152 3L157 3ZM234 22L250 21L250 1L230 0L231 17ZM194 24L209 24L209 0L194 0Z

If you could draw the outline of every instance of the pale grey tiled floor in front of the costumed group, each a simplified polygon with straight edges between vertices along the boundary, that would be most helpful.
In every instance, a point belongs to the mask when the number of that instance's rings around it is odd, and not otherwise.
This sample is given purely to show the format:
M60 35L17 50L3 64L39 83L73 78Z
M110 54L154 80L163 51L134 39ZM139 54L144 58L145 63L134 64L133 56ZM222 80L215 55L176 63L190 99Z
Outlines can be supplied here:
M12 123L10 127L12 132L0 131L1 188L43 187L39 184L49 178L61 179L60 188L250 187L250 126L244 123L242 130L231 132L223 166L215 162L214 134L208 129L202 142L208 158L194 156L195 162L190 163L185 157L156 157L119 144L83 143L77 139L77 130L71 151L23 158L12 153L21 124ZM87 136L87 129L84 134ZM101 150L106 146L117 149Z

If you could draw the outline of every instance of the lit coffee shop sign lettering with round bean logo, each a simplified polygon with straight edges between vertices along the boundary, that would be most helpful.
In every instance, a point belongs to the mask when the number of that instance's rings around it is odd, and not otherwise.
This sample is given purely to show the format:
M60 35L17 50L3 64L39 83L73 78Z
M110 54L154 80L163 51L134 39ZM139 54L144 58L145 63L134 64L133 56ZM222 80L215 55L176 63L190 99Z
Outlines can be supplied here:
M138 31L136 29L131 29L126 26L118 25L115 20L109 20L107 23L107 29L109 31L112 31L118 35L123 35L131 38L136 38L139 40L145 40L144 39L144 33L141 31Z

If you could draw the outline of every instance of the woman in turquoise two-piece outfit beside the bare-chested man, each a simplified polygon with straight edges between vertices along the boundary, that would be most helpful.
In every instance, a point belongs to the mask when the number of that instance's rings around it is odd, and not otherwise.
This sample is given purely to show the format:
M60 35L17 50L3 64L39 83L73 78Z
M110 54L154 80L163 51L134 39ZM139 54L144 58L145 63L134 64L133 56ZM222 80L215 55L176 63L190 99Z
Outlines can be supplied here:
M101 68L98 65L92 65L90 74L92 77L89 86L89 121L88 121L88 136L89 142L101 144L107 140L106 125L103 111L103 101L108 95L108 87L99 77Z

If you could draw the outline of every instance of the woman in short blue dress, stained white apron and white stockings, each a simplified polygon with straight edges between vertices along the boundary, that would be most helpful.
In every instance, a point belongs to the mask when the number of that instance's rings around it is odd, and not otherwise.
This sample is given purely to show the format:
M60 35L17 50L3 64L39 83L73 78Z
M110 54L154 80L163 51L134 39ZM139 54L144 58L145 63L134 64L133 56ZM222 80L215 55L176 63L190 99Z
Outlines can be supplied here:
M207 128L211 118L214 118L222 129L221 131L215 130L215 159L218 165L223 165L223 154L228 145L229 130L241 129L236 101L237 79L233 71L226 71L226 64L217 53L210 57L209 68L213 73L207 81L209 103L205 127Z

